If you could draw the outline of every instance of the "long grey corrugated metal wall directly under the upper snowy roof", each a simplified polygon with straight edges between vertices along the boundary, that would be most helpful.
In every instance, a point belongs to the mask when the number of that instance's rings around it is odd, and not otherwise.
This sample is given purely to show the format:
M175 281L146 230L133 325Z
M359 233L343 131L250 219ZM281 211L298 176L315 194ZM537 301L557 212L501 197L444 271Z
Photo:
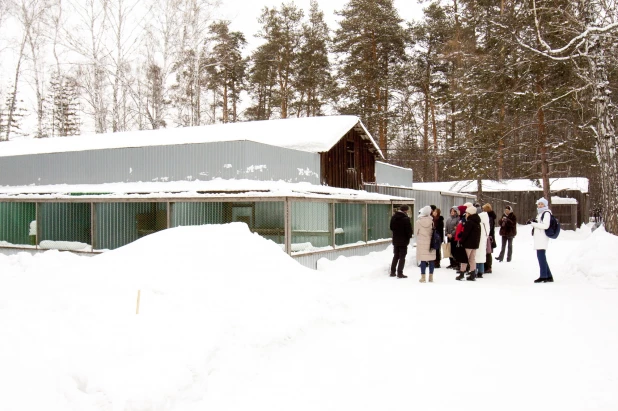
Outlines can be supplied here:
M320 184L320 156L252 141L0 157L0 185L249 179Z

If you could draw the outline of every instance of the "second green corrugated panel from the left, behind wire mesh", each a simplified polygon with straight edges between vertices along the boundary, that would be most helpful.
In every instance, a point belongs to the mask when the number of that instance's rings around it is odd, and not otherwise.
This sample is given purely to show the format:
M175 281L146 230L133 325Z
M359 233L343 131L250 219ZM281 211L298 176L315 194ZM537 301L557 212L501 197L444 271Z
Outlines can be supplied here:
M40 241L77 241L91 244L90 203L41 203Z

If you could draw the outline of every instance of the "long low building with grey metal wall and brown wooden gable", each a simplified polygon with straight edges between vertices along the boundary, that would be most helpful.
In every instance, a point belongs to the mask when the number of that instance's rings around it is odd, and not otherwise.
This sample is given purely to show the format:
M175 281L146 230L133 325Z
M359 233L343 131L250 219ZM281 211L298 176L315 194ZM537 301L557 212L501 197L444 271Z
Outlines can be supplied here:
M384 158L354 116L1 148L0 246L9 249L95 253L169 227L243 222L315 267L318 258L386 248L393 207L414 204L359 190ZM407 172L386 174L396 183Z

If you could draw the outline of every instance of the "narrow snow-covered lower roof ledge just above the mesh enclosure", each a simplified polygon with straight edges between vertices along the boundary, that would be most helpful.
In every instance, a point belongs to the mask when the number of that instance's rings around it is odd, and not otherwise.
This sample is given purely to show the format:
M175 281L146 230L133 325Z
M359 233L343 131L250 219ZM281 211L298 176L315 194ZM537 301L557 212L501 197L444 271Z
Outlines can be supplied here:
M80 194L76 197L74 194ZM310 183L284 181L223 180L172 181L107 184L56 184L0 187L2 199L41 200L54 198L224 198L224 197L300 197L335 200L390 201L410 200L367 191Z

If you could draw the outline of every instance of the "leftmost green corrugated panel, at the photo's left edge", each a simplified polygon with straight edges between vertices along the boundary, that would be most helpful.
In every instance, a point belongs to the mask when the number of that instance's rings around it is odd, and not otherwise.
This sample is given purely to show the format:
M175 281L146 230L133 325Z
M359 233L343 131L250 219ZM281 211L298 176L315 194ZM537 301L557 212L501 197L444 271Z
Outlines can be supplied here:
M0 241L30 244L30 222L34 220L35 203L0 203Z

